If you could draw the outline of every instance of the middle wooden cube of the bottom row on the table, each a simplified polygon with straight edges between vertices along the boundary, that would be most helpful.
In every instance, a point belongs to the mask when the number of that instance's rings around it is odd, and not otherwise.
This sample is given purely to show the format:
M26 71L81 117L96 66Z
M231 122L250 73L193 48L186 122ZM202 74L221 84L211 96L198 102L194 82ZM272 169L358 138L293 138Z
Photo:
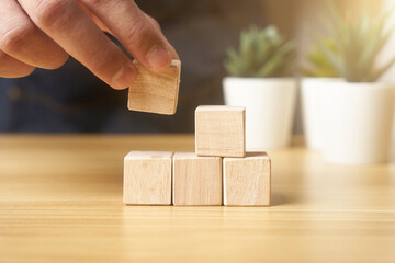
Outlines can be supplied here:
M222 205L222 158L176 152L173 204Z

